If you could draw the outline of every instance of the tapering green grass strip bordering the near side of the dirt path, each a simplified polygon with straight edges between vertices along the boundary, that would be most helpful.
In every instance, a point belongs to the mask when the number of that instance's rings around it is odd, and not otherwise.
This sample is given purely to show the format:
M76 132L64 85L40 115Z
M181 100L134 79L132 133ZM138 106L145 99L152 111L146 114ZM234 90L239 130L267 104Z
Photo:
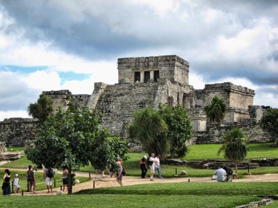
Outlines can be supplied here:
M124 183L124 179L123 179ZM140 184L135 186L85 189L80 194L195 195L195 196L262 196L277 195L278 182L180 182ZM155 191L151 191L155 190Z

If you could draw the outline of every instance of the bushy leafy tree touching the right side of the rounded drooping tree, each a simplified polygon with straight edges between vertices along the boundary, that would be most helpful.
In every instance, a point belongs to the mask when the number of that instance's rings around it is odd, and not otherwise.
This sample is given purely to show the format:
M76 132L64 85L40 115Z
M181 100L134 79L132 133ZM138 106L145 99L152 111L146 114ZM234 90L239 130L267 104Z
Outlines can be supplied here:
M159 105L158 112L167 123L167 139L170 141L170 155L183 157L188 148L186 141L191 137L192 125L186 110L181 106Z

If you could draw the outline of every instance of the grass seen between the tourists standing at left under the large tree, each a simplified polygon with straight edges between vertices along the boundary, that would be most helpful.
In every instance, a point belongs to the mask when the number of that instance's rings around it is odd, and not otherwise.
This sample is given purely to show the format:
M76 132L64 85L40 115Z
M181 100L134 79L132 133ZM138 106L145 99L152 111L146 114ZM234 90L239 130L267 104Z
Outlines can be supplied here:
M13 171L10 170L11 179L10 179L10 184L13 181L13 178L15 177L15 174L19 175L19 186L21 187L20 191L27 191L27 182L26 182L26 177L25 174L26 172L23 171ZM4 175L4 170L0 170L0 175ZM55 174L54 179L56 180L56 187L63 186L63 182L61 180L61 174ZM36 191L44 190L46 189L46 186L44 184L44 177L42 176L42 173L35 173L35 179L36 179ZM86 177L76 177L80 182L87 182L90 179ZM54 180L52 181L52 186L54 187Z

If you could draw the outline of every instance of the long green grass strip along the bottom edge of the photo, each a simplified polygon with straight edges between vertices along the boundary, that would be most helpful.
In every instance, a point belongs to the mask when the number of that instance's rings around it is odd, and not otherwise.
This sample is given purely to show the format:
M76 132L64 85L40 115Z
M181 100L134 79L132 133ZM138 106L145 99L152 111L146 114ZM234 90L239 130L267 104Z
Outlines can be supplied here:
M147 193L154 191L149 190ZM146 193L146 194L147 194ZM1 197L1 207L236 207L260 198L244 196L152 196L147 195L72 195L72 196L10 196Z

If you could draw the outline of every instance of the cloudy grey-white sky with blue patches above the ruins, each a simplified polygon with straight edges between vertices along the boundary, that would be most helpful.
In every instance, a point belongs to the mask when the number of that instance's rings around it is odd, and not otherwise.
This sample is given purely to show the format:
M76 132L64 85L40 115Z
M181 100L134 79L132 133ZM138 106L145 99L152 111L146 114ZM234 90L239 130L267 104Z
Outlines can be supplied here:
M190 85L231 82L278 107L278 1L0 0L0 121L45 90L117 83L117 58L179 55Z

